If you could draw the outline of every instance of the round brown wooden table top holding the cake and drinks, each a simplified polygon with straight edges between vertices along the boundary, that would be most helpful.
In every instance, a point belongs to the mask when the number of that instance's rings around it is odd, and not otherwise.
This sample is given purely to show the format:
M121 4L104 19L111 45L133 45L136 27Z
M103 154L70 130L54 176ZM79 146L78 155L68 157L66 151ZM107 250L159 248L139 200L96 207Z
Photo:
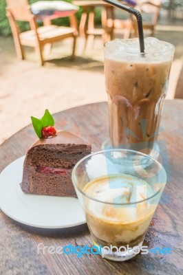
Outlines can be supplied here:
M133 274L176 275L182 269L182 159L183 159L183 100L166 100L162 115L164 131L159 139L166 142L169 181L160 205L145 236L149 248L171 247L172 254L147 254L127 262L117 263L98 255L37 254L38 243L54 245L92 245L87 225L61 230L32 228L13 221L0 211L0 274ZM72 131L89 142L93 151L108 136L107 103L89 104L61 111L54 115L57 129ZM1 128L2 130L2 128ZM21 155L36 140L32 126L27 126L0 146L0 170ZM165 201L165 203L164 203Z

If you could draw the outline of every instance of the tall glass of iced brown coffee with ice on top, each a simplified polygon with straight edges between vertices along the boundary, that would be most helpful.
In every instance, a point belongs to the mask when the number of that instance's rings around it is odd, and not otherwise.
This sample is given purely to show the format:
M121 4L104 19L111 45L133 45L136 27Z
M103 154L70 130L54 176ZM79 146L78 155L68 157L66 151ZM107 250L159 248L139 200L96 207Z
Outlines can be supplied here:
M153 148L166 96L174 47L158 39L116 39L105 44L105 85L109 98L111 145Z

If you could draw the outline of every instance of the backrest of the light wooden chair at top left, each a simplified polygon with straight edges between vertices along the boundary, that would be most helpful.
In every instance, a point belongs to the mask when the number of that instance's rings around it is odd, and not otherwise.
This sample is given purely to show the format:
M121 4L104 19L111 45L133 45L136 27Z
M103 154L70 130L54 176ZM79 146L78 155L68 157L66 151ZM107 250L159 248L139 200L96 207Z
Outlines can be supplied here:
M28 0L6 0L7 8L10 10L14 20L31 21L34 17Z

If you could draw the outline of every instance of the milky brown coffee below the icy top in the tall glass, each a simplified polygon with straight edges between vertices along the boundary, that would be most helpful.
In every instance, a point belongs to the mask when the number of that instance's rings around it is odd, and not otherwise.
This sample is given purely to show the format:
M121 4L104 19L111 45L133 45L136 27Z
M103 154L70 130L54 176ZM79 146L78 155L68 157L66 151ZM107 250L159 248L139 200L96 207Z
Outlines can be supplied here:
M113 146L127 144L126 148L138 149L140 142L147 142L146 147L153 147L153 141L157 138L155 132L160 126L170 69L171 61L128 63L105 59Z

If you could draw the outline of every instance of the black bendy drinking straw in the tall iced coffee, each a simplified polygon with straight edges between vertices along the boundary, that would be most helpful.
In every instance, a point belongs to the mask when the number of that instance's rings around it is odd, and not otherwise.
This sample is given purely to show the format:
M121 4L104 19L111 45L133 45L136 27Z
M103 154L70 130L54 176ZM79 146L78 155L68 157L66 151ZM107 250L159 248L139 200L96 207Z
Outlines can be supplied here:
M114 0L103 0L106 3L114 5L114 7L120 8L121 10L126 10L126 12L132 13L136 16L138 21L138 37L140 43L140 52L144 53L144 33L143 33L143 25L142 25L142 15L136 9L130 8L128 5L123 5L122 3L118 3Z

